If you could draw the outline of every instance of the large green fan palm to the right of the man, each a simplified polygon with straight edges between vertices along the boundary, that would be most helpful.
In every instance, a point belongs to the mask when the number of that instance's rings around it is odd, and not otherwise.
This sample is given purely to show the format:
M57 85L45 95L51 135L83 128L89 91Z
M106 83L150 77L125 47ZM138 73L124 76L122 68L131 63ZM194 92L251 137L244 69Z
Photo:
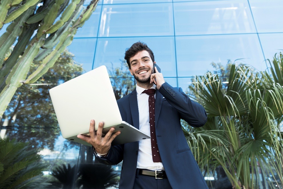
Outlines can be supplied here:
M199 166L222 166L233 188L274 188L270 177L277 178L277 186L283 184L282 53L269 63L264 72L233 64L227 87L211 72L196 76L189 86L208 122L201 128L184 122L186 139Z

